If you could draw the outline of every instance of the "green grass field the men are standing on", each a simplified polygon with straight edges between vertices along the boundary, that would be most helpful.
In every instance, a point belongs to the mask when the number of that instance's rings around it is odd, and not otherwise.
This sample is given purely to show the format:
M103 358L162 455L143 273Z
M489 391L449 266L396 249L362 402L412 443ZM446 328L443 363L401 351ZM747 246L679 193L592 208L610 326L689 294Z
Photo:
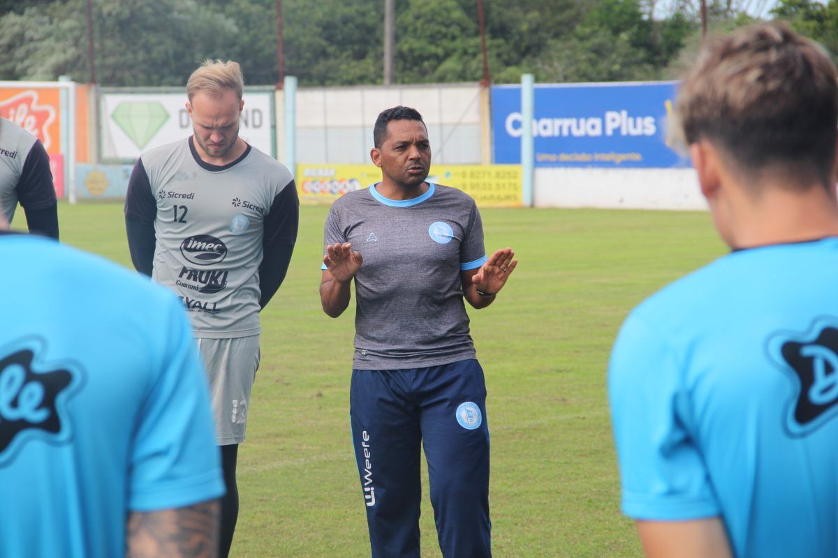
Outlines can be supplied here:
M369 556L349 442L354 312L332 320L318 284L326 207L303 207L285 284L262 313L261 368L239 458L235 556ZM471 311L489 389L494 553L639 556L619 514L606 366L629 309L724 253L703 212L485 209L488 250L520 264ZM130 265L122 205L59 206L66 243ZM18 212L18 226L25 220ZM439 556L423 490L422 556Z

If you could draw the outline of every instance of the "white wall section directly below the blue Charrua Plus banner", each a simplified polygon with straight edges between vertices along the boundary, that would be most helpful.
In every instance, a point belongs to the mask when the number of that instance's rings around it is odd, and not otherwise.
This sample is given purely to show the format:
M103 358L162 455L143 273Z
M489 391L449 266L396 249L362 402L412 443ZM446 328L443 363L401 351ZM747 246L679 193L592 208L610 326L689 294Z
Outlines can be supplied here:
M687 169L535 167L535 207L706 209Z

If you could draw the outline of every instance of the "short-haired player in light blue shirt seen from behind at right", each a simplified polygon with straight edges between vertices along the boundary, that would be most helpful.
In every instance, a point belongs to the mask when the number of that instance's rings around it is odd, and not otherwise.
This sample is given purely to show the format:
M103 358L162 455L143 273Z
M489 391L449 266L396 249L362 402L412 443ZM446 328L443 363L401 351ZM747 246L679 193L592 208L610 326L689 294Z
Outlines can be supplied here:
M629 315L609 394L649 556L838 556L838 79L784 24L709 45L676 101L733 248Z

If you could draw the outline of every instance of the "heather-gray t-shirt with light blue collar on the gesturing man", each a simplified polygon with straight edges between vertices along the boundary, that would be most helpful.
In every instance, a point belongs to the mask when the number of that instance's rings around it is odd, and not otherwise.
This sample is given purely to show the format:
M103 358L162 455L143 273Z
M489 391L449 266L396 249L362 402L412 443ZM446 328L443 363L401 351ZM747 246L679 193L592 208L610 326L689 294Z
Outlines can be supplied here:
M355 274L353 367L395 370L474 358L461 272L486 261L474 200L429 184L406 201L375 186L332 205L325 245L352 243L364 257Z

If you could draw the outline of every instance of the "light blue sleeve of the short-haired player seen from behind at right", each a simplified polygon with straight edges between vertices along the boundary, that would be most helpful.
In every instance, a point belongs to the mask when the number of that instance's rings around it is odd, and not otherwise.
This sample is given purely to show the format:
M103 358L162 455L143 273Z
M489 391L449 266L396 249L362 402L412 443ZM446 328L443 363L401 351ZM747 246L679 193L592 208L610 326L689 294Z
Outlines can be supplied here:
M635 520L696 520L720 514L700 449L678 356L636 315L611 355L608 395L623 513Z

